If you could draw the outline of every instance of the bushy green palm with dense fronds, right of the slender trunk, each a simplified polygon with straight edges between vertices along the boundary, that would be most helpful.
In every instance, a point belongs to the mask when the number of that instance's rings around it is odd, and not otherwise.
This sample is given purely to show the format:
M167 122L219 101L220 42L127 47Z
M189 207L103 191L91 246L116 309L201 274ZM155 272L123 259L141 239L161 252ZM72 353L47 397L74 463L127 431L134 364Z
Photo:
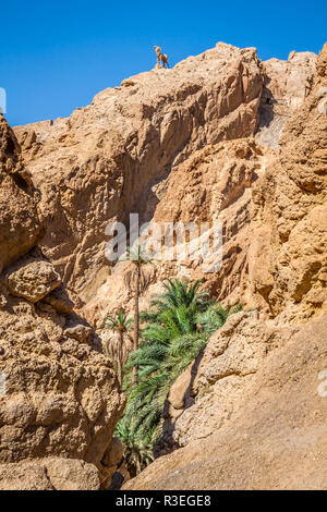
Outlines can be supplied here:
M199 282L170 279L164 284L164 292L153 298L149 310L141 315L147 325L138 350L125 365L126 371L138 368L138 382L132 388L126 375L128 406L123 418L133 426L133 439L138 446L144 446L149 431L153 444L156 443L170 387L208 338L237 312L214 304L198 287Z

